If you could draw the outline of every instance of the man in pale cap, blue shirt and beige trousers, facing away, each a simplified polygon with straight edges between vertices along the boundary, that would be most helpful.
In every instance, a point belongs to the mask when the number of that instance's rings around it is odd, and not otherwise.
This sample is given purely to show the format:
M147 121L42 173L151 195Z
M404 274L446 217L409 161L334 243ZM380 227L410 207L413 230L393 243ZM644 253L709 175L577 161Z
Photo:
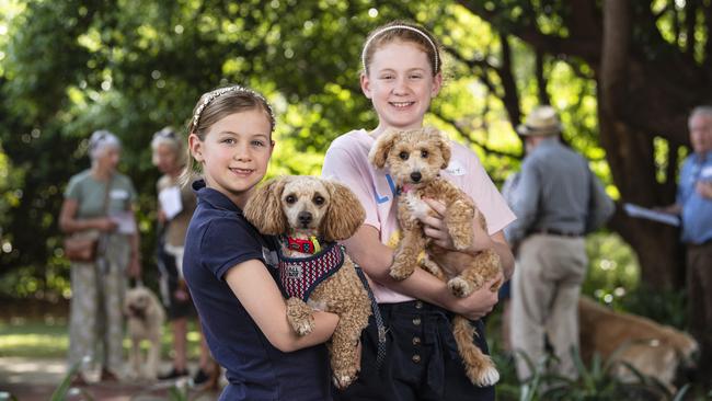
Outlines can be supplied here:
M536 107L524 125L527 157L513 194L517 220L505 229L518 249L512 286L512 348L536 365L548 337L559 364L554 371L575 377L571 355L578 350L577 302L586 276L584 236L613 213L613 203L581 154L561 144L561 123L551 106ZM517 356L517 376L533 373Z

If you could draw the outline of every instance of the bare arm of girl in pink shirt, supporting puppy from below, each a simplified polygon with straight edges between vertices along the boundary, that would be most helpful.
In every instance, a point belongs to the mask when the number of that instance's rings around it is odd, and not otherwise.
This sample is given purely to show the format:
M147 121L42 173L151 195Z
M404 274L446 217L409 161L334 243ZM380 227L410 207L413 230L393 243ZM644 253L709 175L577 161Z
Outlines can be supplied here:
M356 234L343 241L343 244L348 255L371 279L401 294L435 303L472 320L490 313L497 303L497 294L490 290L494 282L485 284L469 297L457 298L445 283L421 268L416 268L404 280L391 278L389 268L393 261L393 250L381 243L379 231L372 226L361 226Z

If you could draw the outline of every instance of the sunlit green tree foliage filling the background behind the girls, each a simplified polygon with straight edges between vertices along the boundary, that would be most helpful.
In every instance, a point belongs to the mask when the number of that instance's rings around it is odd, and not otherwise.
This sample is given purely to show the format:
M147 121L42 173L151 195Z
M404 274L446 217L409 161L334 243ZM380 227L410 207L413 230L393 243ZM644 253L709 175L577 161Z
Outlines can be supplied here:
M665 32L681 13L650 7ZM205 91L237 82L264 92L278 114L268 175L318 174L334 138L377 123L359 89L360 46L394 19L416 21L443 43L446 83L426 123L473 148L495 183L519 167L513 125L550 100L562 111L565 140L618 194L598 141L597 67L537 55L518 28L570 38L576 10L567 2L0 0L0 11L1 294L69 296L57 215L69 176L89 165L94 129L123 139L119 170L140 194L146 272L156 271L159 175L148 144L165 125L184 127Z

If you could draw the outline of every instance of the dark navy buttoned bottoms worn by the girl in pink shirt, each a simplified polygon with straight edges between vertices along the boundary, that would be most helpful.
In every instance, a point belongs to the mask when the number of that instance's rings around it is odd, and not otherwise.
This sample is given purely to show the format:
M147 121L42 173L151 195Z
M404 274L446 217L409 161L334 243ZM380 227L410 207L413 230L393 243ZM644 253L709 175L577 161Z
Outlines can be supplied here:
M334 400L486 400L494 401L494 387L470 382L457 351L451 313L436 306L410 301L379 306L387 329L386 358L376 367L378 332L374 317L361 335L361 370L358 380ZM475 344L489 353L484 325L473 322Z

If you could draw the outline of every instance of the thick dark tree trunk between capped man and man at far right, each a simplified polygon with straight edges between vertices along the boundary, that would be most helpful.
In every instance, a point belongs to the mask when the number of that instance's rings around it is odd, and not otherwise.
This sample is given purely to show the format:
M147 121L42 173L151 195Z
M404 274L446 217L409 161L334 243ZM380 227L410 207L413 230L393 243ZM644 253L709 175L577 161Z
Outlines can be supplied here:
M641 83L641 70L630 57L631 12L628 0L604 1L604 41L598 75L600 142L621 198L644 206L659 205L661 192L670 191L655 180L655 150L651 135L631 127L630 98ZM630 119L628 119L630 121ZM685 264L679 231L670 226L630 218L619 213L611 226L628 241L641 265L643 283L653 288L679 288Z

